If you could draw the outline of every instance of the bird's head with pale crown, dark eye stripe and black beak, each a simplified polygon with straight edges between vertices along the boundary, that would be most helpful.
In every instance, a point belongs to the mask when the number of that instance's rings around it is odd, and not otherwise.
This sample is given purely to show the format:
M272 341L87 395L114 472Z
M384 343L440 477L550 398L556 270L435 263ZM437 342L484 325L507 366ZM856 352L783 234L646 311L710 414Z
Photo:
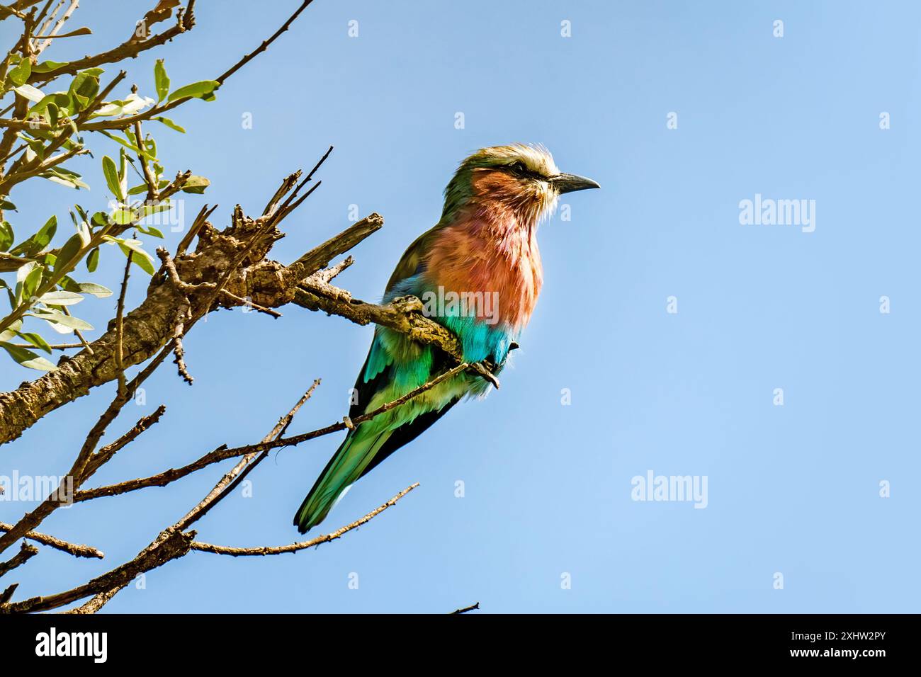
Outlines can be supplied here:
M445 189L442 218L471 202L515 213L529 226L553 213L563 193L600 188L591 179L557 169L543 146L511 144L481 148L461 162Z

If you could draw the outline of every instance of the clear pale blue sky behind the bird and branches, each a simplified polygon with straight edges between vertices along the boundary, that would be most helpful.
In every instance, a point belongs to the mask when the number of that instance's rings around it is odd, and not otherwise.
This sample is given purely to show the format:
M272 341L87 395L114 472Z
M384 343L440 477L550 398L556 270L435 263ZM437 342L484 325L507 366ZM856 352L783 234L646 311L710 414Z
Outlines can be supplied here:
M104 5L80 8L73 23L95 34L69 40L71 54L122 40L150 3ZM200 5L192 33L131 62L126 82L151 92L160 56L174 85L216 76L297 2ZM175 111L188 134L147 125L168 171L212 181L187 211L220 204L221 225L234 204L256 212L332 144L321 189L286 222L274 257L293 261L342 230L352 204L377 211L385 227L339 278L377 299L478 147L543 143L602 190L565 196L571 220L542 227L542 298L502 390L455 407L322 526L420 482L396 508L296 555L190 554L105 610L440 613L480 601L485 613L917 611L919 15L907 2L317 0L215 102ZM0 24L5 41L13 24ZM65 49L47 56L63 60ZM92 191L17 189L20 232L52 210L69 220L77 200L104 206L99 157L117 151L93 142L97 159L74 166ZM814 200L814 232L740 225L740 201L756 193ZM180 238L168 233L169 246ZM110 255L98 281L117 286L120 268ZM136 304L142 274L133 283ZM113 309L112 298L81 307L98 327ZM291 431L340 419L371 330L283 310L278 321L236 311L200 323L185 342L194 386L161 368L146 405L128 407L111 435L159 403L167 414L92 484L262 438L317 377ZM35 376L0 369L4 390ZM64 472L112 392L47 416L3 449L0 473ZM291 516L339 441L274 454L251 474L252 497L228 497L199 538L296 540ZM41 531L106 559L42 552L19 569L17 599L130 558L223 470L59 510ZM705 476L707 507L632 500L631 479L649 470ZM0 519L28 508L0 502Z

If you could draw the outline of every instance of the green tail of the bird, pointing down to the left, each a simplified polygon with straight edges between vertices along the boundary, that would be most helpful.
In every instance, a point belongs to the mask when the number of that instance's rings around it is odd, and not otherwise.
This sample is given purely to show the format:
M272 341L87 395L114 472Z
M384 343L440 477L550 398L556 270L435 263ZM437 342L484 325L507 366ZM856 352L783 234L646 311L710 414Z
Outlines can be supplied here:
M370 426L358 426L349 431L300 508L297 508L294 516L297 531L306 533L326 519L333 506L361 476L389 437L390 431L372 431Z

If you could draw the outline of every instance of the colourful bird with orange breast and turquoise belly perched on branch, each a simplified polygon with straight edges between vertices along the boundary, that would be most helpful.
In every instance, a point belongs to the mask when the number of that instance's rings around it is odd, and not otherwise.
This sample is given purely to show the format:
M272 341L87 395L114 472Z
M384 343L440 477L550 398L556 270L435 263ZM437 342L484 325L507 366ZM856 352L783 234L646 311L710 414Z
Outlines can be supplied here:
M541 292L539 224L554 213L561 194L591 188L600 185L561 172L542 145L515 143L477 150L461 161L445 188L435 227L403 253L382 302L420 298L425 302L423 313L457 336L465 362L485 362L497 374L509 351L518 346ZM401 398L454 366L439 348L378 325L352 391L349 420ZM320 524L358 478L425 432L464 397L484 396L491 381L495 379L462 371L350 427L297 509L297 530L306 533Z

